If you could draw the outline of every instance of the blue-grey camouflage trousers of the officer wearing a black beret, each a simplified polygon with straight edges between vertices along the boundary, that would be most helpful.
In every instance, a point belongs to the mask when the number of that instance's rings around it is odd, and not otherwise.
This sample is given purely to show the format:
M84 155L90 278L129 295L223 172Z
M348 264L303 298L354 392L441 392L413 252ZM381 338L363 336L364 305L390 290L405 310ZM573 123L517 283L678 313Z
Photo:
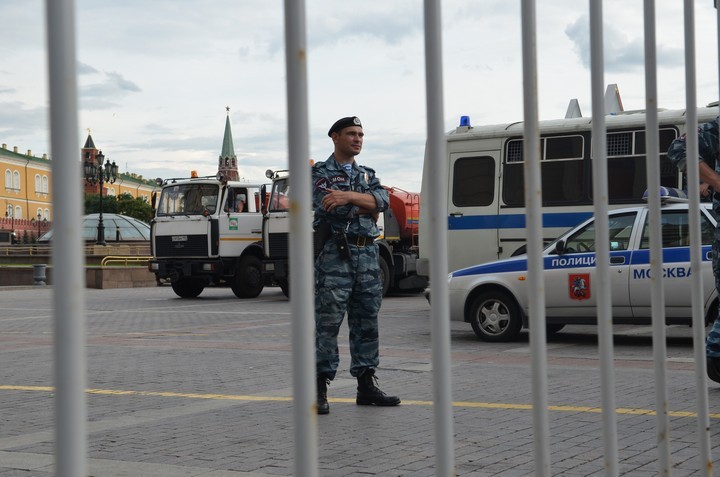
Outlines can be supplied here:
M338 332L345 313L350 331L350 374L360 376L380 362L377 315L382 281L377 244L350 245L350 259L328 240L315 260L315 358L318 376L334 379L340 354Z

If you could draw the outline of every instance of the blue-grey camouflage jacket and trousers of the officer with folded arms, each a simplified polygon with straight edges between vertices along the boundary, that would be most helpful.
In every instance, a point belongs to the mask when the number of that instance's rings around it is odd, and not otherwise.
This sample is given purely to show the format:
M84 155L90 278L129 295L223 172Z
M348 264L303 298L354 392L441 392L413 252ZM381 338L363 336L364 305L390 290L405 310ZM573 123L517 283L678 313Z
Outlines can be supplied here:
M325 221L333 233L348 237L377 237L375 220L358 215L352 204L327 212L322 207L326 190L353 190L375 197L377 211L388 208L388 192L380 185L375 171L352 164L352 177L331 155L327 161L316 163L312 170L313 226ZM358 377L379 363L377 315L382 301L382 281L376 243L358 245L350 242L350 259L340 257L335 242L325 243L315 260L315 326L317 374L334 379L340 356L337 336L345 312L350 329L350 374Z

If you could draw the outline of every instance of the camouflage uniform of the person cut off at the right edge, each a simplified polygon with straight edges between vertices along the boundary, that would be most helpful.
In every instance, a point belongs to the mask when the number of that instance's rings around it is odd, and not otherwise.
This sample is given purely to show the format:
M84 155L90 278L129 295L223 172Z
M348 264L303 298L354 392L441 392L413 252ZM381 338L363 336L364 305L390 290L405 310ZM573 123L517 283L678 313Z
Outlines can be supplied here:
M720 160L718 154L718 118L714 121L702 124L698 127L698 159L705 161L716 173L720 174ZM685 134L673 141L668 149L668 159L678 169L684 171L686 168L686 143ZM713 194L713 211L716 217L720 217L720 194ZM715 241L712 247L713 275L715 276L715 288L720 293L720 223L715 227ZM719 310L720 311L720 310ZM713 327L707 337L705 352L708 358L720 358L720 314L715 319Z

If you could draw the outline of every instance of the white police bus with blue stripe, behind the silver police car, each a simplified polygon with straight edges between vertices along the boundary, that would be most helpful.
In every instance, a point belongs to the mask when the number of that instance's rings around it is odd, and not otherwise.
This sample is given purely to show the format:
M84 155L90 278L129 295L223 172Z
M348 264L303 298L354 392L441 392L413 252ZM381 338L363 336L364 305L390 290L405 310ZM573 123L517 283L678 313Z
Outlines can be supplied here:
M608 202L611 209L636 205L647 189L645 111L625 111L615 85L606 92ZM614 103L609 99L614 98ZM563 119L539 122L542 175L542 227L545 243L593 214L592 118L582 117L571 101ZM718 115L717 103L698 108L698 121ZM685 110L659 110L660 185L684 187L684 177L667 150L685 133ZM511 257L526 242L523 123L472 126L461 118L446 135L447 156L425 157L421 203L428 204L430 161L440 160L448 177L448 269ZM420 210L418 273L429 275L429 210ZM482 246L477 246L482 244Z

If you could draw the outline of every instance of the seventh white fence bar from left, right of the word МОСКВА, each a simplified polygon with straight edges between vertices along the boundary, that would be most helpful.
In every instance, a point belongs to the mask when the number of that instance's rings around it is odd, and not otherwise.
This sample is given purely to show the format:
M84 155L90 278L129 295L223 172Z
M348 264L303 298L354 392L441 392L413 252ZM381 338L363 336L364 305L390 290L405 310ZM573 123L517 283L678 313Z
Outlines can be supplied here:
M700 270L700 174L698 163L697 136L697 95L695 91L695 10L693 0L685 0L685 109L687 115L687 185L689 196L690 225L690 269ZM702 274L690 276L693 314L693 343L695 355L695 388L697 390L698 441L700 446L700 470L704 475L712 475L712 457L710 455L710 416L708 411L708 392L705 363L705 316L703 312Z

